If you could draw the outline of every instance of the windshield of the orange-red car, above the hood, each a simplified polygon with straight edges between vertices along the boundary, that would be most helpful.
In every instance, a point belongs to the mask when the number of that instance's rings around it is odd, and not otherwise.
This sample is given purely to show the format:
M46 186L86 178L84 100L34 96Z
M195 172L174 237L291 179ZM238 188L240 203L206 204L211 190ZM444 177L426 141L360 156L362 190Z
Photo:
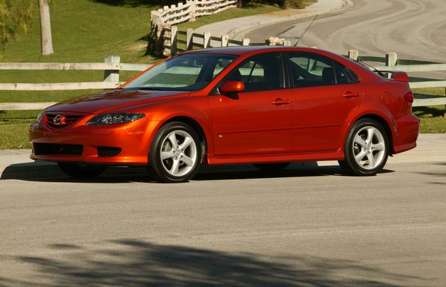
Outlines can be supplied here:
M201 90L236 56L219 54L184 54L149 69L134 79L125 89Z

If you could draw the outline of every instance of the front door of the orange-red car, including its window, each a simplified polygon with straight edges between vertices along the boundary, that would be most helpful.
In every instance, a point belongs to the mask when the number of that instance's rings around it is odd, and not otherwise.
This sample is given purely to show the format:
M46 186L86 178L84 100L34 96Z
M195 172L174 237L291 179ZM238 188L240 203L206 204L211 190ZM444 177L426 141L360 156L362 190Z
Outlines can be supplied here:
M216 156L291 151L293 105L285 89L281 54L260 54L234 68L222 82L243 81L236 95L210 95Z

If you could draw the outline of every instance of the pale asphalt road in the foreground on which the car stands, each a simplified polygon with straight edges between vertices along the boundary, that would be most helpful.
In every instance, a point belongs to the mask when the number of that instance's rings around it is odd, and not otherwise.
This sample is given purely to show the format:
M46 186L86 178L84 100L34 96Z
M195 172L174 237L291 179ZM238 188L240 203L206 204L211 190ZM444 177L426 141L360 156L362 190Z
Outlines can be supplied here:
M445 143L422 135L376 177L296 163L180 184L1 151L0 286L445 286Z

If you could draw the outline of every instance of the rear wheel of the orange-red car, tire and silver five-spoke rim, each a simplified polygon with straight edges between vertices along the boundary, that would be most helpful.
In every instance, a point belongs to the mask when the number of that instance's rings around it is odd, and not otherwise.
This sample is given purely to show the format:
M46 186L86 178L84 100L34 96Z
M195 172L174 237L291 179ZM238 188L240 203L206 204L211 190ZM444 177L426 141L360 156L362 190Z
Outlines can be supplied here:
M376 120L361 119L348 132L344 145L345 159L339 161L339 165L351 175L375 175L383 170L389 150L389 138L383 126Z

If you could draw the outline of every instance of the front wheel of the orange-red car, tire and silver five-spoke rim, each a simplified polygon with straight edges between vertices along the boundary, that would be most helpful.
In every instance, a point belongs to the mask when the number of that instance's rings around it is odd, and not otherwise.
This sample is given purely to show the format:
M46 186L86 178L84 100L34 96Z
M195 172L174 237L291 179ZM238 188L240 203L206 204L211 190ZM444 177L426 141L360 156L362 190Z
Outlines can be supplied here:
M157 181L185 182L197 173L202 159L203 145L197 132L183 122L169 122L155 134L148 154L148 172Z

